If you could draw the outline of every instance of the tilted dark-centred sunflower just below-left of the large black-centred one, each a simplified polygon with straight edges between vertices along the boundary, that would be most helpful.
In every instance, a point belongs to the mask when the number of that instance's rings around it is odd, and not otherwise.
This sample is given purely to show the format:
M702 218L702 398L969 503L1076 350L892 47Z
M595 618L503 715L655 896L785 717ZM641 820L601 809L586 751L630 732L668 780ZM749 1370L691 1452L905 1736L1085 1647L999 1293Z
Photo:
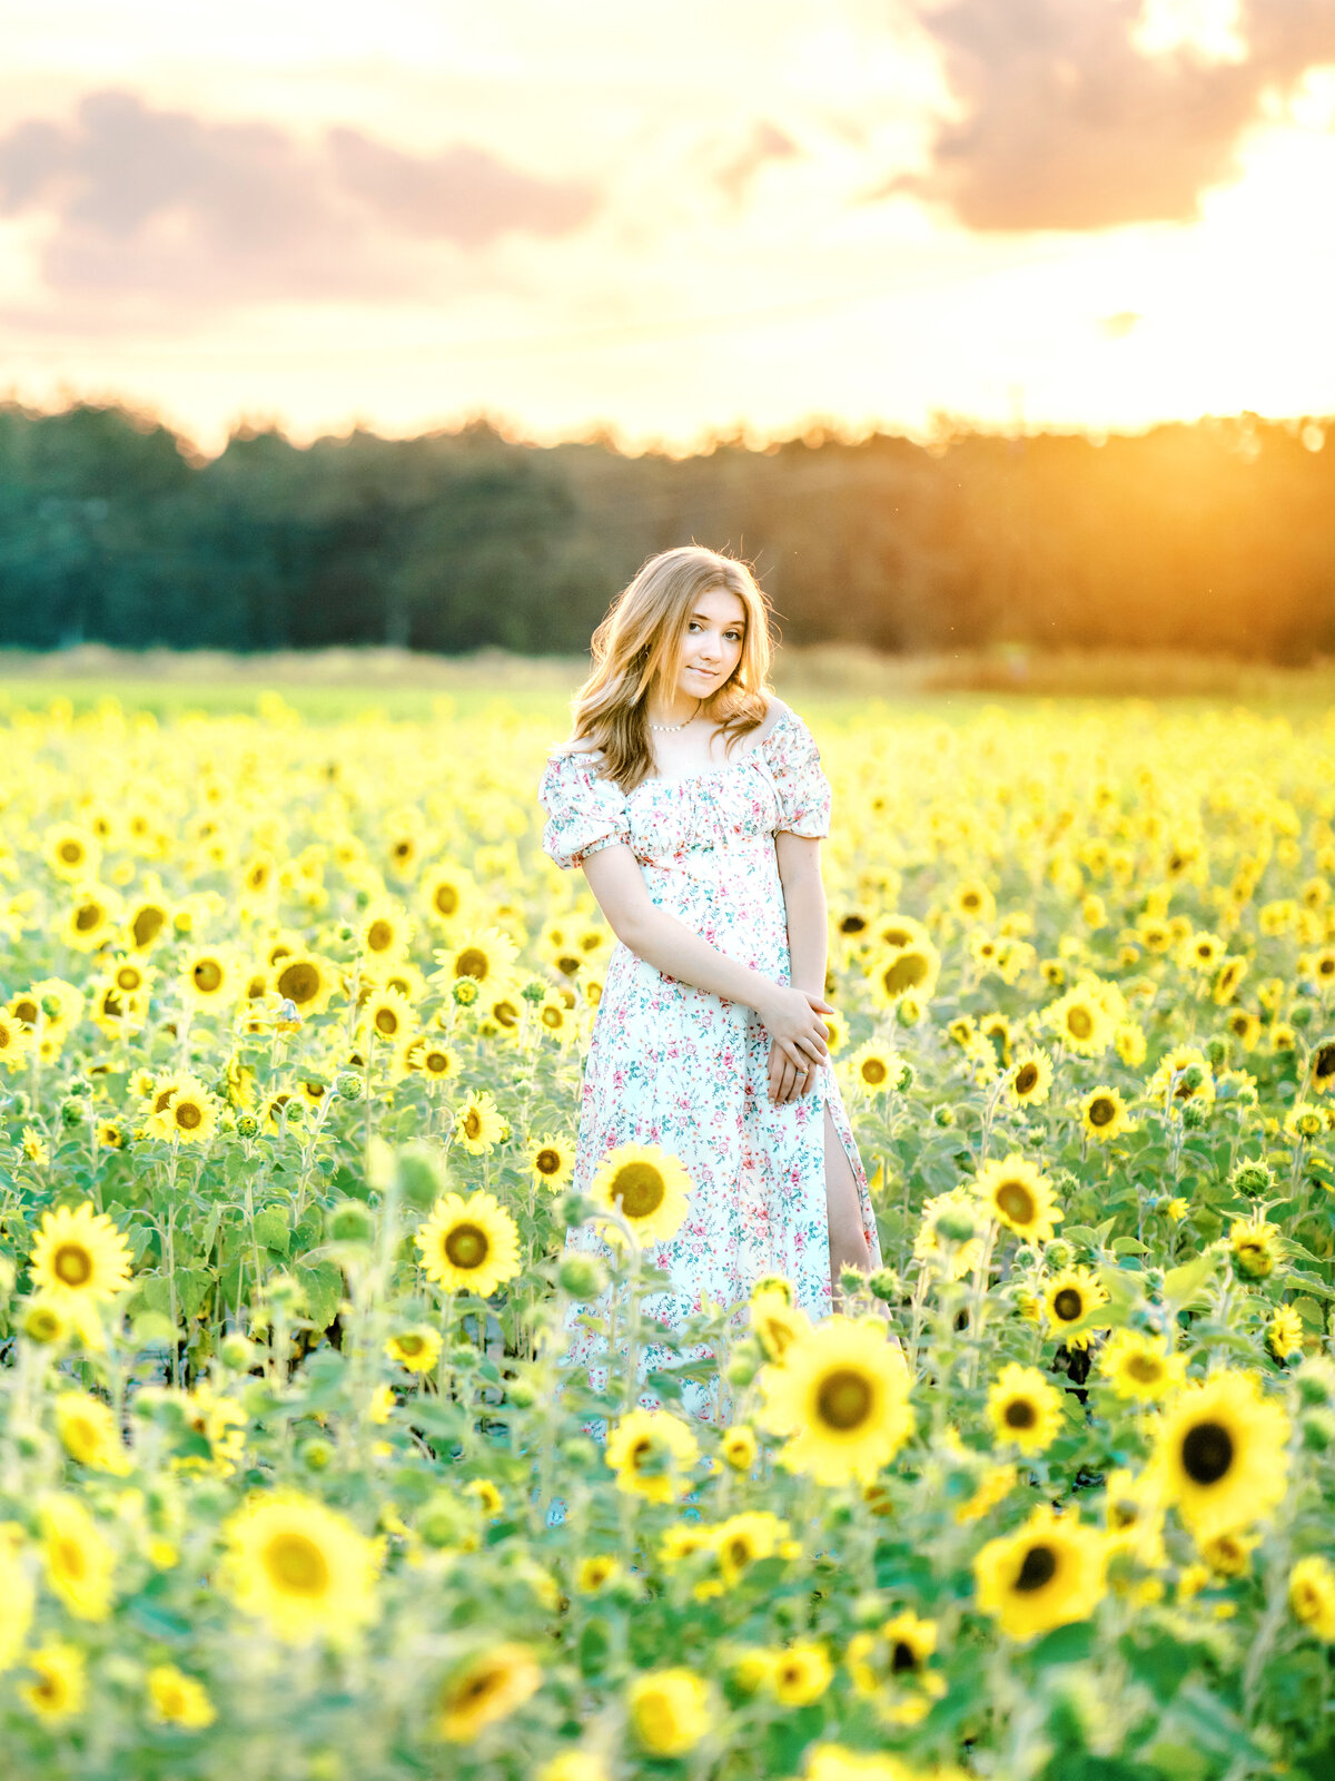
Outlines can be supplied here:
M988 1541L974 1558L977 1605L1011 1639L1032 1639L1089 1619L1105 1592L1104 1565L1098 1528L1043 1503L1022 1528Z

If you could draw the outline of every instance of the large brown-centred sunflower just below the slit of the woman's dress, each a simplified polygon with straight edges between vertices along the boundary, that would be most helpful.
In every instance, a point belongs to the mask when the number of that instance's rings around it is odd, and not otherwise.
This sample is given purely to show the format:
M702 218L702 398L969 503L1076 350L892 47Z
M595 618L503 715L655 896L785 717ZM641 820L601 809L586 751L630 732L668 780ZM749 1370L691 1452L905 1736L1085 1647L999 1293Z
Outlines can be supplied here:
M819 1484L870 1484L913 1434L908 1364L881 1318L837 1313L805 1330L760 1387L760 1421L789 1435L780 1464Z

